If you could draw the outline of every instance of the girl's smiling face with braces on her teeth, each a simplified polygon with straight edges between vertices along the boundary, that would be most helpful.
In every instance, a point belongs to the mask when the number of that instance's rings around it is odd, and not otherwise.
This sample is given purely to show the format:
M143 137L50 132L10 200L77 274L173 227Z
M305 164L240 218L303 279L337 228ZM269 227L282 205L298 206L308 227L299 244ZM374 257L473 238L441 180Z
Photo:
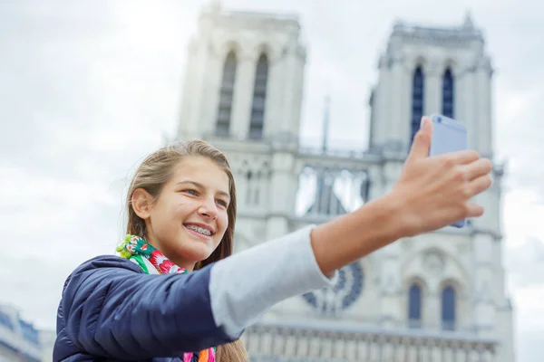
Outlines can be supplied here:
M227 174L212 160L185 157L159 197L145 207L147 217L141 215L148 242L192 271L218 247L227 230L228 186Z

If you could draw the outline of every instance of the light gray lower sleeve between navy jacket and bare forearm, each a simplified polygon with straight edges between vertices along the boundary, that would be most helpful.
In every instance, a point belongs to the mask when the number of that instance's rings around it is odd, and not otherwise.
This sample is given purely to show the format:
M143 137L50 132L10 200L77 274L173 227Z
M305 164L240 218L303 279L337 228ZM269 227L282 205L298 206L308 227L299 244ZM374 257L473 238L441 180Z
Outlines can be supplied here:
M209 295L218 327L236 337L279 301L333 285L319 269L306 226L217 262Z

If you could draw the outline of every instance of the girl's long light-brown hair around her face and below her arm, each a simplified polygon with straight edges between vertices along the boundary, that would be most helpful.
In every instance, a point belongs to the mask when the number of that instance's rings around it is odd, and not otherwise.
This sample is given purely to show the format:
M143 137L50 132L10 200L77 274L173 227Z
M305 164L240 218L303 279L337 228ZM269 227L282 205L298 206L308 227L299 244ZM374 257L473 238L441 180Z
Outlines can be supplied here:
M157 199L162 188L170 180L175 167L185 157L206 157L221 167L228 176L228 194L230 202L228 204L228 226L223 235L218 248L209 255L206 260L200 261L195 265L195 270L199 270L212 262L218 262L232 254L234 240L234 224L236 222L236 186L234 176L227 157L214 148L209 143L201 140L191 140L185 143L178 143L169 147L160 148L146 157L136 170L131 186L129 187L126 201L128 214L127 233L146 237L145 221L138 216L132 208L131 198L135 190L142 188L146 190L154 199ZM248 354L243 343L238 339L227 345L219 346L217 351L218 362L246 362Z

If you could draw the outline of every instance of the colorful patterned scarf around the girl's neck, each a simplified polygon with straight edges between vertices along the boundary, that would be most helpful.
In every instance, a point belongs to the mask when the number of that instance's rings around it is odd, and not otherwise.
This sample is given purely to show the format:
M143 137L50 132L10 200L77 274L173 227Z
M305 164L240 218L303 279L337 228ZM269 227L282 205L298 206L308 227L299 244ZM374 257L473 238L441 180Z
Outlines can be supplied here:
M127 235L116 251L122 258L136 262L146 274L175 274L187 271L170 262L162 252L147 243L140 236ZM183 362L215 362L216 348L208 348L198 355L189 352L183 354Z

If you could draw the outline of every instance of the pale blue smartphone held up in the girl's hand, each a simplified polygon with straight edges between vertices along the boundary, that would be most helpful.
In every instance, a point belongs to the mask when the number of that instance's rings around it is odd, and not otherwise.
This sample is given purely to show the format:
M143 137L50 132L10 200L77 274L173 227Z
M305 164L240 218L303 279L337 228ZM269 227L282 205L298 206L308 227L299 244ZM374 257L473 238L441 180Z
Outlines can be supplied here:
M467 128L460 121L441 114L432 114L430 118L432 121L432 138L429 156L467 149ZM465 224L466 220L463 219L452 224L452 226L461 228Z

